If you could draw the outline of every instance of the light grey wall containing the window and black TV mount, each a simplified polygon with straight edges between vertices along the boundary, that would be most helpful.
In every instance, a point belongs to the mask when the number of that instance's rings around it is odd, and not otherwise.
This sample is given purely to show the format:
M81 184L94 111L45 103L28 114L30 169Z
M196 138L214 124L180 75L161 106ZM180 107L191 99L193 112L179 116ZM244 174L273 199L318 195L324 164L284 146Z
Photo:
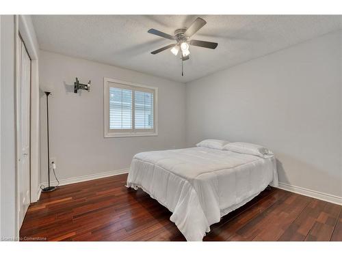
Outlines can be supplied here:
M137 152L185 146L185 85L114 66L40 52L40 87L49 96L51 157L67 179L126 169ZM74 94L75 77L91 91ZM103 77L158 87L157 137L103 137ZM46 98L40 98L40 170L47 182Z

